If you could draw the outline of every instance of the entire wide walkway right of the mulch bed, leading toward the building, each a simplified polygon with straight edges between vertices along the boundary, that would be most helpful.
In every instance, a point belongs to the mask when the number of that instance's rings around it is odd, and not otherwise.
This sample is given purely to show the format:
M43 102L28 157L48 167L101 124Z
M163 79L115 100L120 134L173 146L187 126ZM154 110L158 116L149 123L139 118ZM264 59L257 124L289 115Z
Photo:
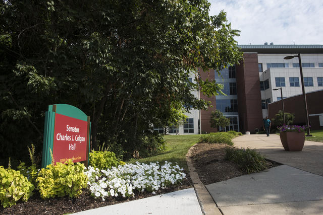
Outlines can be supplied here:
M275 134L233 141L285 165L206 185L223 214L323 214L323 143L305 141L302 152L287 152Z

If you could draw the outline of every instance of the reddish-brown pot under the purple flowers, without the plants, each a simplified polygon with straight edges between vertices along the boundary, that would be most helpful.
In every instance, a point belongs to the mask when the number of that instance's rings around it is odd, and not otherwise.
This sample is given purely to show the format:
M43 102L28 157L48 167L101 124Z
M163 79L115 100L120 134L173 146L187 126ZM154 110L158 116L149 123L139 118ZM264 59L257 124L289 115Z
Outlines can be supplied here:
M282 131L279 135L286 151L302 151L305 142L305 132Z

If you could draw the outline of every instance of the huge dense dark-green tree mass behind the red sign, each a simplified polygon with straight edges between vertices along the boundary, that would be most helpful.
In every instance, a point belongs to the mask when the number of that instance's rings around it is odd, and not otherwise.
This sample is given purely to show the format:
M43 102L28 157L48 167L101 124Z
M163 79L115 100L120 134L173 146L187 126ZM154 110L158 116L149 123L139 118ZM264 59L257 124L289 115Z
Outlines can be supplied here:
M82 109L91 117L92 148L105 142L126 156L159 139L152 124L176 123L175 104L207 108L191 92L212 96L221 87L187 85L189 75L242 56L239 31L225 12L210 17L209 7L206 0L2 0L0 150L21 158L34 142L40 152L50 104Z

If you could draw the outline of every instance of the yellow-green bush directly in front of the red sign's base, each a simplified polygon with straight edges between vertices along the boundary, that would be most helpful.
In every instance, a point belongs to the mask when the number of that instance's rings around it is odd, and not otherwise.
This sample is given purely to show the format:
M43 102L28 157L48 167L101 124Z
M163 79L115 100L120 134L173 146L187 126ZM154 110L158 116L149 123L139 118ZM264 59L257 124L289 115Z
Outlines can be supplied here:
M56 166L49 164L40 170L36 182L42 198L78 197L87 185L84 164L74 164L72 160L65 164L57 162Z

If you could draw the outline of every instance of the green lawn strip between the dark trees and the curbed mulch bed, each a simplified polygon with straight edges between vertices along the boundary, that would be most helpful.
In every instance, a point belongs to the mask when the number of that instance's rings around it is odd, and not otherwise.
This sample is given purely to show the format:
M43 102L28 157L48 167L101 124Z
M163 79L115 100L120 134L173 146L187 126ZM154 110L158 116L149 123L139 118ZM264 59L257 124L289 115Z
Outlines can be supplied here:
M156 161L158 161L159 163L164 163L165 161L172 163L177 162L180 167L188 171L185 155L187 154L191 146L196 144L200 136L201 135L199 134L166 135L164 136L164 139L167 142L167 149L163 153L148 158L131 159L127 163L135 163L136 161L140 163L150 163Z

